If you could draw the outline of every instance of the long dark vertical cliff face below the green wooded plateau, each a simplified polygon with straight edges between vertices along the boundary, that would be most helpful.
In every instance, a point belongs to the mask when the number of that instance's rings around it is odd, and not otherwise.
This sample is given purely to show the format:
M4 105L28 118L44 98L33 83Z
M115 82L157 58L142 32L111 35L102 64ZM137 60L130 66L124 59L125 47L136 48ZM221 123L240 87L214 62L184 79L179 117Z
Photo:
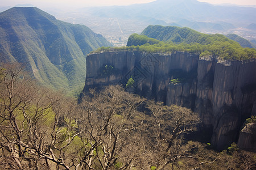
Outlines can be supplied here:
M102 75L106 65L114 71ZM133 78L135 93L199 113L204 127L213 129L212 144L221 150L237 141L243 121L256 114L255 68L256 59L218 62L181 52L104 52L87 57L84 91L109 84L125 86ZM170 83L171 79L177 82Z

